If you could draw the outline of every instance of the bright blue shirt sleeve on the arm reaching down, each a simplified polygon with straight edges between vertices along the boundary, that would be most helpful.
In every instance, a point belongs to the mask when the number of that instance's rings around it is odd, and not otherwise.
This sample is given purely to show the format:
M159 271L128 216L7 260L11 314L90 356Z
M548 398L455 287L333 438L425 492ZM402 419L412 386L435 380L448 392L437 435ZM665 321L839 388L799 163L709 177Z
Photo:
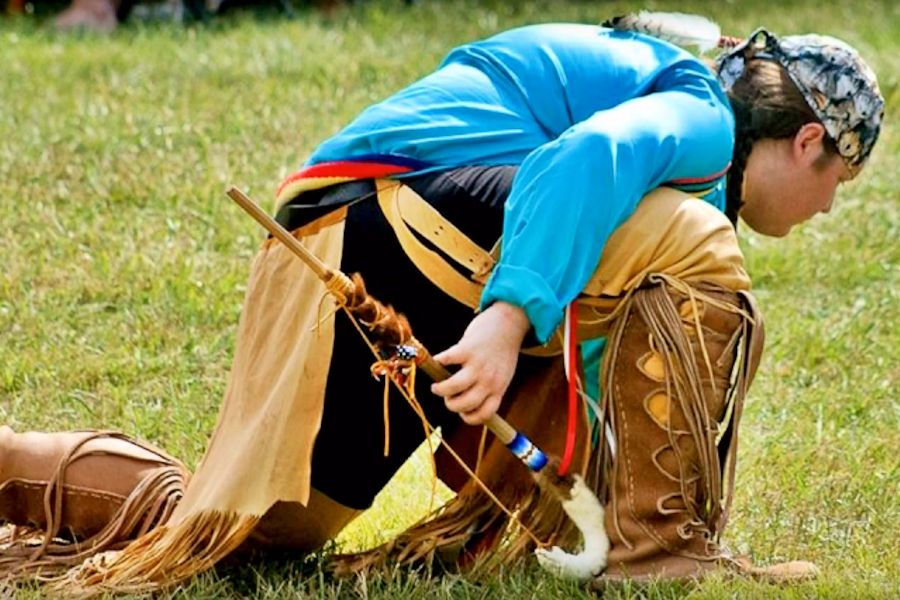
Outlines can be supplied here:
M659 185L727 168L733 116L708 77L674 70L531 152L506 204L482 307L522 307L540 341L584 288L612 232Z

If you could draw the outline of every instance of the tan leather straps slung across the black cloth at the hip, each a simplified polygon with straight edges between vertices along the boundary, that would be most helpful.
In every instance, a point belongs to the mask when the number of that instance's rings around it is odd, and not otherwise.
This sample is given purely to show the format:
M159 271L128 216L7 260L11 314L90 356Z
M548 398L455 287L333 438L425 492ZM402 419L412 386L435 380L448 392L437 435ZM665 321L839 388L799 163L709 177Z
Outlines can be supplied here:
M473 274L490 272L494 265L490 254L408 186L398 181L376 179L375 188L378 205L412 263L451 298L477 309L483 286L454 269L440 254L422 243L413 231Z

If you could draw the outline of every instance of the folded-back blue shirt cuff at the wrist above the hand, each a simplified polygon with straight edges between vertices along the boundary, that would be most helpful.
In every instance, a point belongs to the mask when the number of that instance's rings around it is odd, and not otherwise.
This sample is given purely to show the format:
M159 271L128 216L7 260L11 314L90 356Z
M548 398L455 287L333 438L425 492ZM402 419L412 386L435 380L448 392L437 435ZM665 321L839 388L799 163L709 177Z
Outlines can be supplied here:
M547 342L562 320L562 307L544 279L529 269L499 264L481 294L481 309L494 302L522 308L541 344Z

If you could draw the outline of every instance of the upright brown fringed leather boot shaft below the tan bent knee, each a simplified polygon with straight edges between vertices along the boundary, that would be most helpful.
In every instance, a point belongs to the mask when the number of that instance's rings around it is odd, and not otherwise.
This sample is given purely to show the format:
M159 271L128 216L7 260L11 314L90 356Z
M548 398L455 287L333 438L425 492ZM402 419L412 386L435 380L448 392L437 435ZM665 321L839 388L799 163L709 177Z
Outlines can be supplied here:
M729 425L747 314L733 292L692 300L658 283L636 292L610 335L603 385L616 454L607 579L693 577L724 558L717 540L730 495L726 458L734 456L717 436Z

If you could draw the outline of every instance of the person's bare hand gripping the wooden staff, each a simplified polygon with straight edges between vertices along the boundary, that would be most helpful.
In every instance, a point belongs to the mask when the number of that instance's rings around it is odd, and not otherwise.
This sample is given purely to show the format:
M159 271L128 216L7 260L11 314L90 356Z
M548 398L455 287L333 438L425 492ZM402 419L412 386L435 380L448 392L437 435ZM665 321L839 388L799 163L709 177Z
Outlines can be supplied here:
M459 342L434 357L460 368L431 391L469 425L483 424L500 408L530 327L521 308L495 302L472 319Z

